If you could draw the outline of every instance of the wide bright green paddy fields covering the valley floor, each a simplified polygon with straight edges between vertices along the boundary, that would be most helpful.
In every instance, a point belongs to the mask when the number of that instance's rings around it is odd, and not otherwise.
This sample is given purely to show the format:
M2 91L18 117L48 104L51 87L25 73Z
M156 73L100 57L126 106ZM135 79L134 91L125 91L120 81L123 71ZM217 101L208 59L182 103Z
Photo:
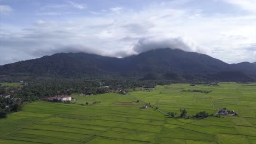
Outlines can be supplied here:
M219 84L156 86L130 95L73 94L76 104L36 101L0 119L0 143L256 143L256 83ZM188 89L212 92L181 92ZM177 116L170 118L150 107L139 109L143 101ZM180 108L195 115L216 113L218 107L235 110L239 116L178 118Z

